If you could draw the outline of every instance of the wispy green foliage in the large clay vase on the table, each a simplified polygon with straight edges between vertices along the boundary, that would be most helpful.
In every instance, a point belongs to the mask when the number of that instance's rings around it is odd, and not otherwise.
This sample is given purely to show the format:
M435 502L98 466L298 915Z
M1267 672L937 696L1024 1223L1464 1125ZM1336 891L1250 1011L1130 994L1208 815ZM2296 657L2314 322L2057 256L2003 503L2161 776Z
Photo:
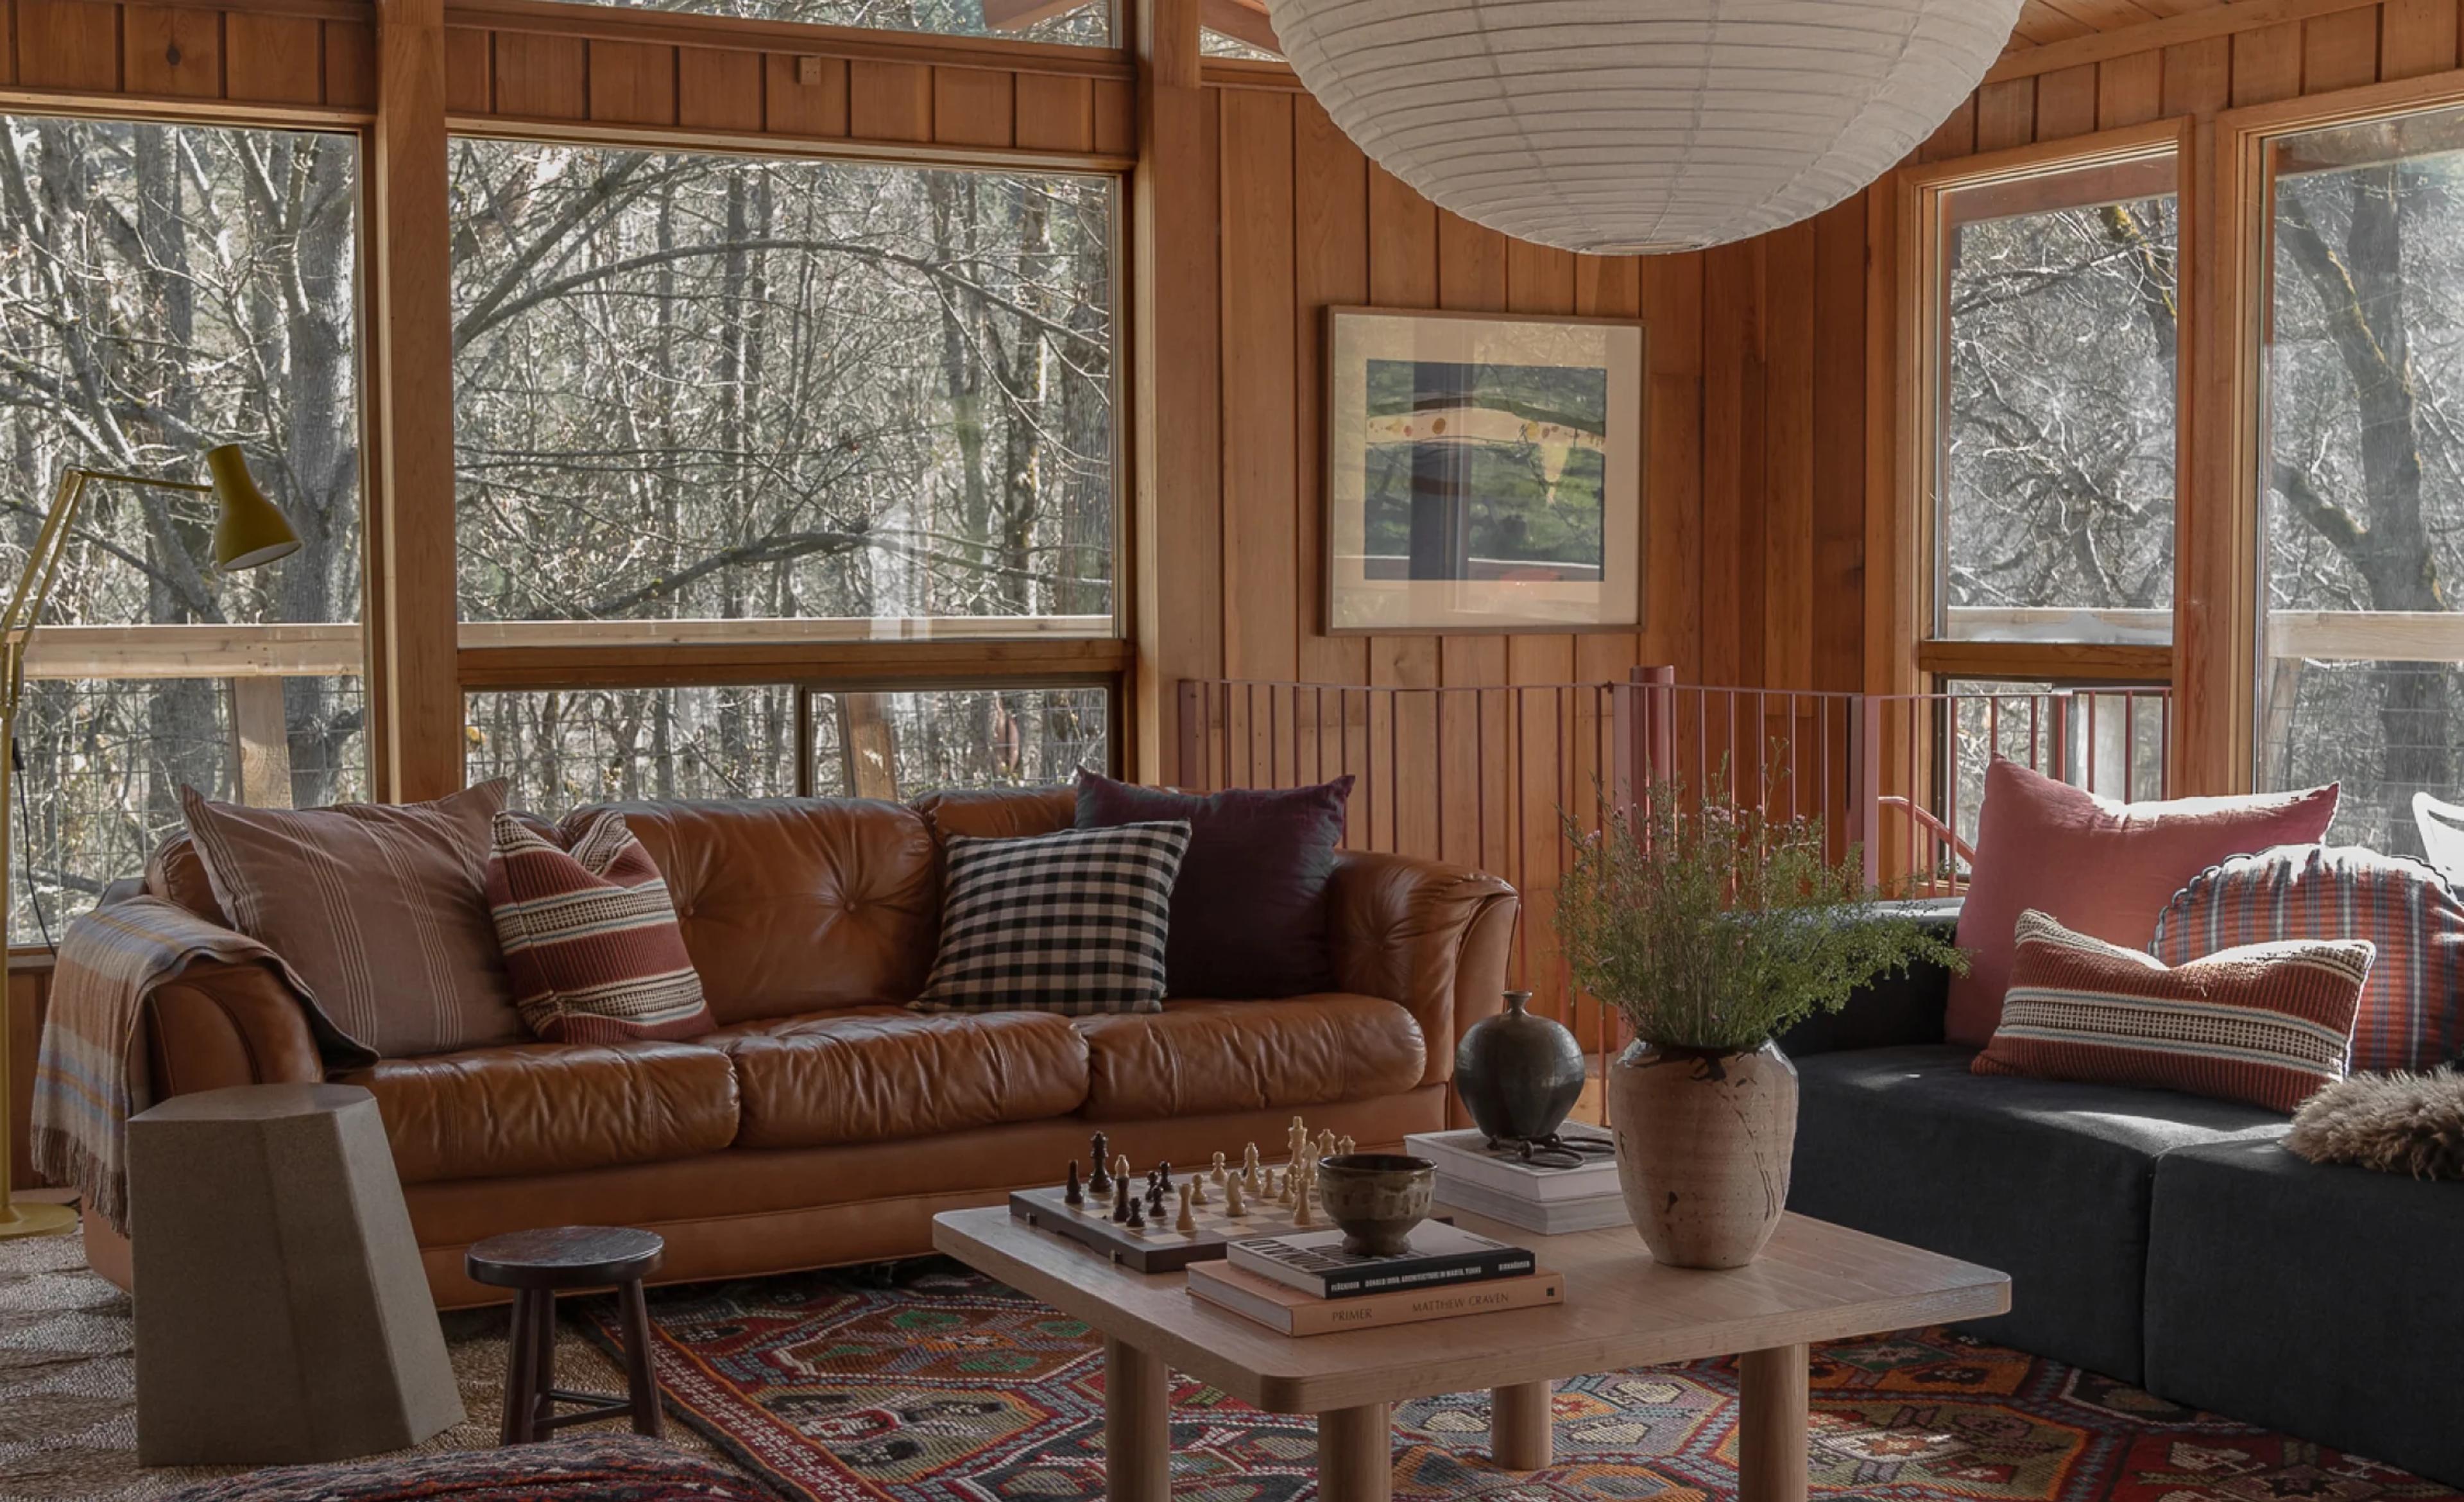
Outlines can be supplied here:
M1574 982L1651 1043L1749 1051L1915 962L1966 969L1878 905L1855 848L1823 853L1821 819L1740 804L1725 774L1703 797L1656 782L1597 831L1567 819L1567 843L1557 940Z

